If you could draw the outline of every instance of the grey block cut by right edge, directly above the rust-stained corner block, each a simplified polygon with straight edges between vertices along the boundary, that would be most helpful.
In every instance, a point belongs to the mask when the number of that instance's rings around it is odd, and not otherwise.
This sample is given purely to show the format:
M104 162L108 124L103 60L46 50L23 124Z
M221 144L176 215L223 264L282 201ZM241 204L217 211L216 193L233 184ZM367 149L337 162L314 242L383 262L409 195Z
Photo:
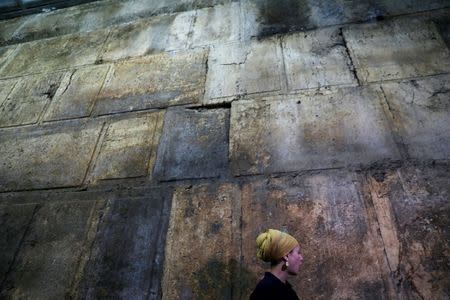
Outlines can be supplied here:
M450 158L450 76L382 85L393 122L415 159Z

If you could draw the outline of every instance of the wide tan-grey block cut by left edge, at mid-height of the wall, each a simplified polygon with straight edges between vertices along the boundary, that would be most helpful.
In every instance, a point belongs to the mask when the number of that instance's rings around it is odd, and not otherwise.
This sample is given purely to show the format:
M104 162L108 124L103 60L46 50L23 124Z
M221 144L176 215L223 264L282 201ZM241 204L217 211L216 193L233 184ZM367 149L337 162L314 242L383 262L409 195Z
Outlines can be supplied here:
M101 125L79 121L0 131L0 190L78 186Z

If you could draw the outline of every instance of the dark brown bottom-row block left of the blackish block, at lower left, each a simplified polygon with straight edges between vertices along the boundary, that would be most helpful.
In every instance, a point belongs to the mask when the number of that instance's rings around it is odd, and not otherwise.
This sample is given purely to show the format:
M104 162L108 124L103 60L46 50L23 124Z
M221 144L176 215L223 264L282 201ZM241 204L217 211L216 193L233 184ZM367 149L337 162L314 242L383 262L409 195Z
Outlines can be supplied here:
M80 201L46 204L37 210L0 296L69 297L95 208L94 201Z

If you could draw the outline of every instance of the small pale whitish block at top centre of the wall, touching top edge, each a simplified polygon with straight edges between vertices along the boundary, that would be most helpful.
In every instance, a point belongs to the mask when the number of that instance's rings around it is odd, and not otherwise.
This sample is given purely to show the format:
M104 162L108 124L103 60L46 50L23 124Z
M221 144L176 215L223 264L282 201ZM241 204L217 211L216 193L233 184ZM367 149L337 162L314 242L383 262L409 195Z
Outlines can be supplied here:
M192 47L238 41L240 37L239 3L216 5L196 12L192 28Z

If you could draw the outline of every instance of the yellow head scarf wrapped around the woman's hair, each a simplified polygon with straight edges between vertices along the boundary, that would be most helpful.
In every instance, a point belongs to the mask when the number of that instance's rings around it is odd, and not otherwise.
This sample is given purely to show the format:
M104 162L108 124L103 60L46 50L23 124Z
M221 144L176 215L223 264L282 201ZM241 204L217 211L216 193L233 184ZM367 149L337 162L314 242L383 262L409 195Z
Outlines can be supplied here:
M297 240L276 229L268 229L256 238L256 256L266 262L280 260L298 245Z

